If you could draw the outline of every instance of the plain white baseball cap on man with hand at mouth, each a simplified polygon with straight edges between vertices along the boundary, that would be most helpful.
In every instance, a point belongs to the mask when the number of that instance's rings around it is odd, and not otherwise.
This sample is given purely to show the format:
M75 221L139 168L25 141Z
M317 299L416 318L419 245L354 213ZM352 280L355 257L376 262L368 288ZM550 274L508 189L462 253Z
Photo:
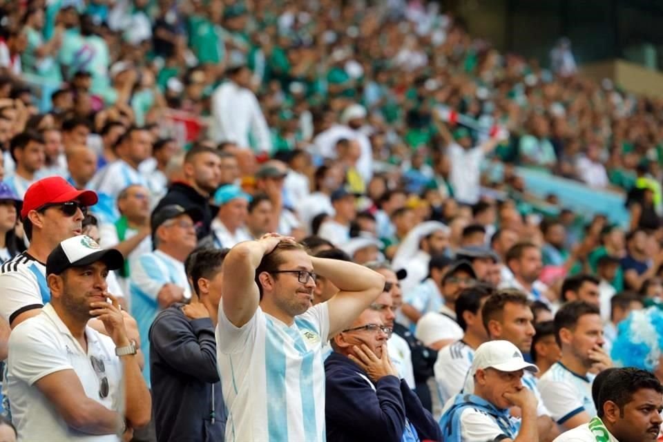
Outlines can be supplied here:
M517 372L527 370L536 373L539 371L536 365L525 361L518 347L508 340L490 340L479 345L474 353L470 376L477 374L478 369L494 368L500 372Z

